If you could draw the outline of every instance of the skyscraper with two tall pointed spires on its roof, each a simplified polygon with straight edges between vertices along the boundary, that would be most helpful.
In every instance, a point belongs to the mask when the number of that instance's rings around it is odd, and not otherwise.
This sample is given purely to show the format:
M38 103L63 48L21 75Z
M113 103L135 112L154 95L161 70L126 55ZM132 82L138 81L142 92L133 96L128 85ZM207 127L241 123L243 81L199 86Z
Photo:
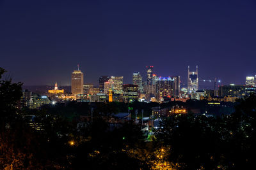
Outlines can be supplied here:
M188 93L191 94L198 90L198 67L196 66L195 71L189 71L188 66Z

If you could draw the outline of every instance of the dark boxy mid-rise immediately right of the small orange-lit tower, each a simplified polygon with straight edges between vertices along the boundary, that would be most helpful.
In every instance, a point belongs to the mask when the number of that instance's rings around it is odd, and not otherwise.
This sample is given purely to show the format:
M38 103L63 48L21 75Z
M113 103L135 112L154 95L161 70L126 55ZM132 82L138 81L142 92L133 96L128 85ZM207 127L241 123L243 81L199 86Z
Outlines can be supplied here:
M138 101L138 85L123 85L123 99L125 103Z

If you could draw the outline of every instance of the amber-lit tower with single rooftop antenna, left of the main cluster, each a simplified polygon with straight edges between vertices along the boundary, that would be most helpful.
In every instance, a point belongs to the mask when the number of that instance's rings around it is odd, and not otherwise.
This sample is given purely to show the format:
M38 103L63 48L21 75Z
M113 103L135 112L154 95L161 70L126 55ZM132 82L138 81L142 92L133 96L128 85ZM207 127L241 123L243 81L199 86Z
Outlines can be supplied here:
M74 70L71 75L71 92L73 95L83 94L84 74L79 70Z

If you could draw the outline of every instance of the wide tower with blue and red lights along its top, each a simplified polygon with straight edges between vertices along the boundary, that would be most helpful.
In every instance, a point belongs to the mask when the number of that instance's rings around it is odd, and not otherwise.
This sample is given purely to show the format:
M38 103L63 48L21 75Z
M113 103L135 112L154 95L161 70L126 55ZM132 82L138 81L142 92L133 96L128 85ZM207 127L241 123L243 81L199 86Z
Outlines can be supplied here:
M163 101L163 97L172 97L174 94L174 79L173 78L157 78L156 80L156 96L157 101Z

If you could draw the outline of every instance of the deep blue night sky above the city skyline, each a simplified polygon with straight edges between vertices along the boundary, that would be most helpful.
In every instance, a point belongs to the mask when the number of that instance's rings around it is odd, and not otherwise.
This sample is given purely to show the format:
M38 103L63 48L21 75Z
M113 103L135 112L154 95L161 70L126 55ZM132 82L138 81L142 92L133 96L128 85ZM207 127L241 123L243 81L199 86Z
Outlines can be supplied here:
M25 85L99 76L181 76L242 84L256 74L256 1L0 0L0 67ZM144 76L145 77L145 76Z

